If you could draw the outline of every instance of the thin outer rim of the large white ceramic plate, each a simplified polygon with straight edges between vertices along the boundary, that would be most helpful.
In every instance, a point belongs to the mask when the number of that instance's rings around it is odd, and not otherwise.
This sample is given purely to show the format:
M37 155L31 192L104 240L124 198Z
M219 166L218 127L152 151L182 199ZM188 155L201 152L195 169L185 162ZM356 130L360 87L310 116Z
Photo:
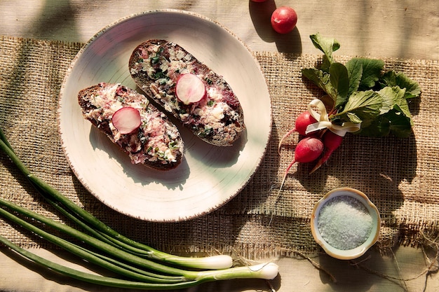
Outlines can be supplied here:
M254 166L254 169L253 169L252 173L250 173L247 176L247 179L245 179L245 181L241 181L240 182L240 186L238 188L236 188L236 190L234 190L233 194L230 194L227 198L224 197L224 199L221 202L217 203L215 206L210 206L210 207L206 208L206 210L203 213L191 214L191 216L187 215L184 218L181 218L181 216L179 216L178 218L174 218L174 219L166 219L166 218L164 218L164 219L161 219L161 220L160 219L154 219L154 218L147 218L147 216L145 216L144 218L141 218L141 217L133 216L132 214L129 214L126 211L122 211L121 209L116 209L116 207L108 204L107 202L102 200L102 198L99 195L96 195L95 191L90 189L90 186L88 186L88 183L84 182L81 179L81 174L79 174L76 171L76 168L72 164L72 161L69 158L69 155L67 153L67 148L65 146L65 142L62 139L61 109L62 109L62 102L63 102L63 93L64 93L64 90L65 90L65 87L66 87L66 83L69 80L69 76L71 76L72 71L73 71L76 63L79 61L81 55L83 55L83 53L86 52L86 50L90 46L93 45L94 41L97 38L99 38L100 36L105 34L110 29L112 29L112 28L114 28L114 27L116 27L118 25L121 25L123 22L132 20L134 18L140 18L140 17L142 17L144 15L151 15L151 14L154 14L154 13L177 13L177 14L182 14L182 15L189 15L191 17L199 18L199 19L207 21L207 22L212 22L212 24L216 25L220 29L224 29L225 32L227 32L234 39L236 39L241 44L241 46L243 46L243 48L245 48L245 50L247 50L248 53L251 55L252 60L254 60L257 69L259 69L260 73L262 74L262 77L264 78L264 84L265 84L265 87L266 87L268 104L269 104L269 125L268 125L269 131L268 131L268 135L266 137L266 140L264 141L263 151L262 151L261 155L259 155L259 157L257 158L257 161L255 162L255 166ZM205 15L201 15L199 13L194 13L192 11L184 11L184 10L179 10L179 9L154 9L154 10L149 10L149 11L142 11L140 13L133 13L133 14L127 15L126 17L120 18L119 20L116 20L116 21L110 23L109 25L106 25L106 26L102 27L102 29L100 29L98 32L96 32L86 43L84 43L84 45L80 48L78 53L76 53L75 57L70 62L69 66L67 67L67 71L65 72L65 76L62 79L62 83L61 83L60 91L59 91L59 95L58 95L57 125L58 125L58 134L60 136L60 144L61 144L61 147L62 147L62 151L64 153L64 156L65 156L65 158L67 160L67 163L68 163L70 169L72 170L72 173L74 174L74 176L76 176L76 179L78 179L78 181L81 183L83 188L85 188L88 191L88 193L90 193L90 195L93 195L93 197L95 197L99 202L101 202L102 204L106 205L110 209L113 209L114 211L118 212L119 214L130 216L132 218L137 218L137 219L142 220L142 221L150 221L150 222L158 222L158 223L182 222L182 221L189 221L189 220L192 220L194 218L201 217L201 216L205 216L206 214L209 214L212 211L215 211L215 210L219 209L220 207L224 206L224 204L227 204L234 197L236 197L236 195L241 193L241 191L245 188L245 186L247 186L248 183L250 183L251 179L255 176L255 174L257 173L257 171L261 167L262 160L264 160L267 148L269 146L269 142L271 140L271 136L273 134L272 133L273 132L273 129L272 129L272 127L273 127L273 101L271 99L271 95L270 95L270 92L269 92L269 87L268 87L267 82L266 82L266 76L265 76L264 72L262 71L262 67L260 66L259 60L257 60L255 54L252 53L250 48L238 36L236 36L236 34L234 34L234 32L231 32L230 29L228 29L227 27L225 27L221 23L217 22L216 20L212 20L212 19L206 17ZM262 146L261 146L261 148L262 148Z

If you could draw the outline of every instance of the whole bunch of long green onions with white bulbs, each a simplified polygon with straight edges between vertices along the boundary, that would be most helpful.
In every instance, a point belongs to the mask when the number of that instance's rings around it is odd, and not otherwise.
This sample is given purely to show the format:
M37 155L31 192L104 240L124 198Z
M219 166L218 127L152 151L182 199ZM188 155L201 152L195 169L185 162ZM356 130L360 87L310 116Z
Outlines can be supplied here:
M1 130L0 148L11 158L18 169L25 174L32 186L55 209L72 220L81 230L36 214L34 211L20 207L2 198L0 198L0 216L48 240L48 242L81 257L86 262L99 265L119 274L121 279L81 272L58 263L53 263L20 248L5 237L0 237L0 243L5 244L9 249L29 258L29 260L33 260L43 267L66 274L74 279L94 284L120 288L161 290L186 288L205 281L223 279L273 279L278 274L278 266L275 263L231 267L233 261L231 256L219 255L201 258L174 256L129 239L95 218L88 211L74 204L74 202L62 195L58 190L55 190L48 183L32 174L15 154ZM39 225L43 225L45 230L39 228ZM47 227L73 237L88 247L79 246L62 237L53 235L53 233L46 230Z

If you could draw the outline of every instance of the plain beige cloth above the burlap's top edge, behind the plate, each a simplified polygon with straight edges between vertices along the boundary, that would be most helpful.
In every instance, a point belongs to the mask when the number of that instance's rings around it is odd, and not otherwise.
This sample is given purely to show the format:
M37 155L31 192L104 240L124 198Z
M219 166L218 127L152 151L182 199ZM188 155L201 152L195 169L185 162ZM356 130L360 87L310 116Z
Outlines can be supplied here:
M297 12L291 34L276 34L269 25L271 12L281 6ZM0 35L86 42L127 15L168 8L216 20L254 51L313 54L308 36L320 32L342 43L341 55L439 60L435 0L2 0Z

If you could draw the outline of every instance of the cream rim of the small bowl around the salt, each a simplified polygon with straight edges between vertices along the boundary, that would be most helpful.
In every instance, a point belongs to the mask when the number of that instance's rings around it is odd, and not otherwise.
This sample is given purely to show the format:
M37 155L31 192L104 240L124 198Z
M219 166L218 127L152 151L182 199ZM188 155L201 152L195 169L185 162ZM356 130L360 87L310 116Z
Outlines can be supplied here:
M320 235L320 232L318 231L317 225L318 214L323 205L333 197L339 197L344 195L354 197L358 201L363 203L363 205L372 216L372 220L374 223L372 226L372 231L370 232L370 236L366 239L365 242L363 242L363 244L360 244L360 246L357 246L354 249L346 250L337 249L334 246L331 246L330 244L325 242L325 239L323 239L323 237ZM318 200L311 214L311 233L314 237L314 240L325 250L328 255L332 256L333 258L338 258L340 260L351 260L353 258L363 256L363 254L377 242L380 227L381 218L379 216L379 211L377 207L369 200L365 193L361 192L360 190L356 190L355 188L335 188L333 190L330 190L320 200Z

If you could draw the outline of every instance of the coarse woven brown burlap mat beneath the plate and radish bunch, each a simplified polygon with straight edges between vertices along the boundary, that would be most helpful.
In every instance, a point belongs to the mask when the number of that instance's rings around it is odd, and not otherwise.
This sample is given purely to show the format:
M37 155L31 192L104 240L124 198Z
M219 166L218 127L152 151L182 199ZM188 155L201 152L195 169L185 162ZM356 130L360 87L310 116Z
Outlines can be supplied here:
M72 174L62 153L56 123L58 92L80 48L81 43L0 38L0 125L32 172L121 233L175 253L220 251L246 258L312 253L321 251L309 225L314 204L332 188L346 186L366 193L381 213L376 248L418 246L425 237L437 235L438 61L384 60L387 69L404 71L421 85L421 98L410 105L414 115L410 138L348 134L329 163L314 174L307 174L311 165L293 167L281 196L276 197L297 142L297 135L292 135L279 156L279 137L292 127L306 104L321 94L302 80L300 69L313 67L320 55L255 52L273 102L273 136L257 174L234 200L211 214L181 223L151 223L118 214L97 201ZM0 153L0 195L63 220L4 153ZM2 219L0 235L25 247L53 248Z

